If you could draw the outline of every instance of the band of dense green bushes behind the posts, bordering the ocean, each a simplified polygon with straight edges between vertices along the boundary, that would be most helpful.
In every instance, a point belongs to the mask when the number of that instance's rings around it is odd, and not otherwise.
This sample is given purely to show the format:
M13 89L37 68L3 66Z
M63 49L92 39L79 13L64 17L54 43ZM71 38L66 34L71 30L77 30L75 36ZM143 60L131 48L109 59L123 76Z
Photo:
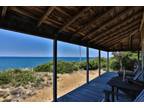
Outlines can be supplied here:
M106 59L101 58L102 68L106 68ZM82 62L66 62L66 61L58 61L57 63L57 72L58 73L71 73L73 71L78 71L79 69L86 70L87 63L86 61ZM91 59L89 61L89 69L96 70L98 69L98 58ZM47 64L42 64L34 68L36 72L52 72L53 71L53 63L49 62Z

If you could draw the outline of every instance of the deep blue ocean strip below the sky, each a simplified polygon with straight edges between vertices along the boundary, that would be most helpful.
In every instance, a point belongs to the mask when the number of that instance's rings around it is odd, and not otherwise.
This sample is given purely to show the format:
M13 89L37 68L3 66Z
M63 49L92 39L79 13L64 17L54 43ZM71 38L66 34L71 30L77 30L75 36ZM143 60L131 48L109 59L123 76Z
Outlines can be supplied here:
M90 58L92 59L92 58ZM52 61L52 57L0 57L0 71L7 69L34 68L38 65ZM58 57L58 60L78 62L86 60L85 57Z

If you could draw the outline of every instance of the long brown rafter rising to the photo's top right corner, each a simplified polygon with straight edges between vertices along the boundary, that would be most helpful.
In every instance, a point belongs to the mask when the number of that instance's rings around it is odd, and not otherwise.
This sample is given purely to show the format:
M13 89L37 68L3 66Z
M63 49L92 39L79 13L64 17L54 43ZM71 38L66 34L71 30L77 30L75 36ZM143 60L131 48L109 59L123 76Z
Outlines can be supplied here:
M134 8L134 7L133 7ZM124 11L120 12L120 14L118 14L117 16L115 16L114 18L110 19L109 21L107 21L107 23L105 23L104 25L100 26L98 29L94 30L92 33L88 34L86 37L94 37L95 34L100 31L101 29L105 28L106 26L108 26L109 24L111 24L113 21L115 21L116 19L120 18L120 16L125 15L126 13L128 13L129 11L131 11L133 8L128 8L125 9ZM84 40L86 37L84 37L82 40Z

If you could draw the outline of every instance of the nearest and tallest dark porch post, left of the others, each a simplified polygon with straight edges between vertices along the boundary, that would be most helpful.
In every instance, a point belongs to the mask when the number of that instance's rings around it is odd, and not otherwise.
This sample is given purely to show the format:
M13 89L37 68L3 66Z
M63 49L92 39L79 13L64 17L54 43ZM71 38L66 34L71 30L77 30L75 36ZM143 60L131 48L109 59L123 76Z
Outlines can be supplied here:
M53 101L57 101L57 39L53 40Z

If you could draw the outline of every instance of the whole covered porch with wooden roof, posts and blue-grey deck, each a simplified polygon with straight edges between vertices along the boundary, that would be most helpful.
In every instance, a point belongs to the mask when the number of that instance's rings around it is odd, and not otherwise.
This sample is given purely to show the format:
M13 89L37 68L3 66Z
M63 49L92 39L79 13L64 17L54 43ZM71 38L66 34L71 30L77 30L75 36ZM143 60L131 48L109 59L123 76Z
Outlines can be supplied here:
M115 72L109 52L144 51L143 7L0 7L0 28L53 39L53 101L95 102ZM57 97L57 41L86 47L86 84ZM89 48L99 50L99 77L89 81ZM101 75L101 50L107 51L107 72ZM143 56L142 56L143 61ZM142 63L143 65L143 63ZM142 66L143 67L143 66ZM143 68L142 68L143 69ZM129 101L120 94L119 101Z

